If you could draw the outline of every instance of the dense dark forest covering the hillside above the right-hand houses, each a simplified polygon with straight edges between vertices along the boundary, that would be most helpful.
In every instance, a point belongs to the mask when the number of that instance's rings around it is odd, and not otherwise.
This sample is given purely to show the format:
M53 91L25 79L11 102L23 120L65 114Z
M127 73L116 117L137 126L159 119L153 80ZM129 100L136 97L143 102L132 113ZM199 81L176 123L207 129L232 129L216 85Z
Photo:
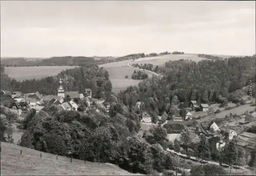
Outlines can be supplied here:
M244 94L236 90L248 85L249 80L253 80L252 89L255 89L255 57L202 60L198 63L169 61L164 69L156 67L156 72L163 73L163 77L153 76L120 92L124 105L132 107L140 100L144 103L142 108L162 115L164 111L169 113L170 107L179 102L184 102L184 107L187 107L190 100L221 103L222 106L228 100L242 102Z

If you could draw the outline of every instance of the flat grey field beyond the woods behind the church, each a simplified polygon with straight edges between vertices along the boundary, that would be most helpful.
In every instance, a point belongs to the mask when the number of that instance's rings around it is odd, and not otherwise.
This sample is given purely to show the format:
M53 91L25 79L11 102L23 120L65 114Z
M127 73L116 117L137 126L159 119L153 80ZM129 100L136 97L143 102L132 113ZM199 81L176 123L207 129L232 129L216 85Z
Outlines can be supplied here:
M5 73L18 81L40 79L56 76L62 70L75 68L77 66L36 66L36 67L5 67Z

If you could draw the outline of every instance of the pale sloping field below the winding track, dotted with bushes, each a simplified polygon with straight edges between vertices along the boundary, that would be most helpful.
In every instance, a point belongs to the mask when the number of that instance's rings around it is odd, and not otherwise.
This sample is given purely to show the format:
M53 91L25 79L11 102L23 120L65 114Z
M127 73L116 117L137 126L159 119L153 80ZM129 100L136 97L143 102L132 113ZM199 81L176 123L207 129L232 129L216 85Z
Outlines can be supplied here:
M102 66L109 72L110 80L112 83L112 91L114 93L119 93L120 90L126 89L128 86L131 85L138 85L138 83L142 80L133 80L132 74L134 70L140 70L139 68L133 68L127 65L127 63L131 63L131 60L125 60L120 62L112 62L107 63ZM149 71L145 71L148 74L148 77L151 78L153 73ZM127 74L128 78L124 78Z

